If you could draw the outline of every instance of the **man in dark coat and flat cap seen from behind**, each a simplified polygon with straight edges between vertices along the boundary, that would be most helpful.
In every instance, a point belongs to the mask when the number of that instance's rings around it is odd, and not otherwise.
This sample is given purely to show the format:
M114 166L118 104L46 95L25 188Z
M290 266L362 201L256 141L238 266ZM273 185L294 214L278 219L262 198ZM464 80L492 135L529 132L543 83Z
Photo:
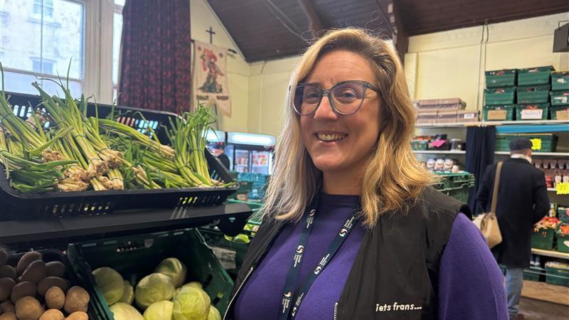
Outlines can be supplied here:
M504 161L496 206L496 217L502 242L492 249L499 264L506 266L506 294L510 319L521 320L518 314L523 269L531 259L533 225L549 211L546 178L543 171L531 164L531 141L517 138L510 142L510 159ZM489 212L496 175L496 164L484 171L477 199Z

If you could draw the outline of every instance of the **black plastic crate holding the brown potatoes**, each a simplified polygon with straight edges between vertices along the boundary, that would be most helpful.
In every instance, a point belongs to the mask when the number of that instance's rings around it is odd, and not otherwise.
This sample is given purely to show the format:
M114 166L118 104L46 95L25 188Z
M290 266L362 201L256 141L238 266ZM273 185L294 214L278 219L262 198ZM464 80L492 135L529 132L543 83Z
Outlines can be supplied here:
M83 278L79 277L78 274L75 273L75 270L73 269L73 266L70 264L67 255L63 254L63 252L59 250L54 250L54 249L37 250L37 252L41 253L41 255L43 256L43 261L46 263L52 261L63 262L63 265L65 265L65 279L67 279L70 282L69 287L78 285L80 287L83 287L83 289L87 290L87 292L89 292L87 287L85 287L85 282L83 281ZM10 255L8 261L6 262L6 265L11 265L12 267L16 267L18 261L24 255L24 253L25 252L17 253L15 255ZM89 316L89 319L100 319L100 316L102 316L103 313L95 303L96 297L92 294L89 294L89 296L90 296L90 301L89 301L89 309L87 310L87 315Z

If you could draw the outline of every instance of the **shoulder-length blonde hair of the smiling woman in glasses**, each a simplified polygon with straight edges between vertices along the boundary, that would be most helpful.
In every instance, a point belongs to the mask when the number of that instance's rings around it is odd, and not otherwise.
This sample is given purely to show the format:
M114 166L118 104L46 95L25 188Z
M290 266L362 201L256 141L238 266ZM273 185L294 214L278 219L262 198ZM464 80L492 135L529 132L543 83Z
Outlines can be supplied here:
M327 32L307 49L295 68L285 100L285 127L275 147L275 170L261 213L297 221L319 192L322 173L302 143L292 100L297 83L307 77L319 57L333 50L349 50L368 59L381 95L382 129L361 186L361 220L373 228L379 215L407 210L433 176L422 169L411 149L415 108L398 54L389 43L358 28Z

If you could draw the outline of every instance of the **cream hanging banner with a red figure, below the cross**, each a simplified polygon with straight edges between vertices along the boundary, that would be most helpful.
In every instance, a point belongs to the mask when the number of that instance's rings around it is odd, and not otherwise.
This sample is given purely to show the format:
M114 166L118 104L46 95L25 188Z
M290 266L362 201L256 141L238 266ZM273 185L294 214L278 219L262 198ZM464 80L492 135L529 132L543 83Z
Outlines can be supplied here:
M227 49L195 41L193 65L194 106L215 104L225 117L231 117L231 100L227 80Z

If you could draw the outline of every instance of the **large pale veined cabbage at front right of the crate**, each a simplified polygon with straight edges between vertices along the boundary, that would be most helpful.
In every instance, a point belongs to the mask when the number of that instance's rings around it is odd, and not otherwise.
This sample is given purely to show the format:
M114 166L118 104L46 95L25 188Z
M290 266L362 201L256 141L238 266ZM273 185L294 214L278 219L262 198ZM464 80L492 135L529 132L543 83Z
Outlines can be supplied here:
M207 320L211 299L206 292L193 286L181 287L174 297L174 320Z

